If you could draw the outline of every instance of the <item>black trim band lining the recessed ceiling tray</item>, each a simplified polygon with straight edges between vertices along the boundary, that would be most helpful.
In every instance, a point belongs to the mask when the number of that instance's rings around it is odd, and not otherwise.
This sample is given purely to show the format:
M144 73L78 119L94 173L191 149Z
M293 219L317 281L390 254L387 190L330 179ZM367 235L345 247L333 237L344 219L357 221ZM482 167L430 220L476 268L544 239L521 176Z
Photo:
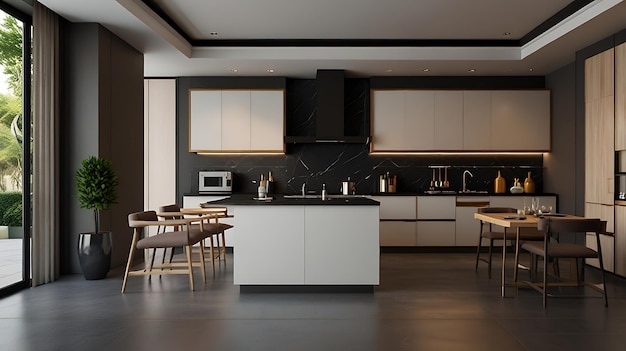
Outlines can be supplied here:
M486 39L192 39L154 0L141 0L195 47L507 47L522 46L594 0L574 0L519 40Z

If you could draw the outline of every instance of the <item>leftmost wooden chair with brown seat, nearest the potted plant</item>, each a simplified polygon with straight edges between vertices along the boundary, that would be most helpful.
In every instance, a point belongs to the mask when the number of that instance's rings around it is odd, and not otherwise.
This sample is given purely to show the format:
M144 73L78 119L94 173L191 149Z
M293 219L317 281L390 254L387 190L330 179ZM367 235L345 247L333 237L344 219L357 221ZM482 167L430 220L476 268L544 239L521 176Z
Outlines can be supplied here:
M163 219L159 220L155 211L135 212L128 215L128 226L133 228L133 239L128 253L128 262L126 263L126 270L124 272L124 282L122 284L122 293L126 291L126 283L129 276L135 275L154 275L154 274L187 274L189 275L189 288L194 290L193 279L193 262L191 257L191 250L193 245L198 244L206 237L206 232L203 230L204 222L208 220L208 217L198 217L193 219ZM200 230L192 230L193 225L198 225ZM164 231L153 236L144 236L144 228L149 226L171 227L172 230ZM186 262L182 264L170 263L163 264L162 270L157 270L161 267L153 267L150 265L148 268L139 268L133 270L133 259L137 250L143 249L166 249L174 247L184 247L186 254ZM200 247L202 250L202 246ZM200 256L201 269L203 277L206 277L204 268L204 253ZM152 262L152 261L151 261ZM153 269L157 268L157 269Z

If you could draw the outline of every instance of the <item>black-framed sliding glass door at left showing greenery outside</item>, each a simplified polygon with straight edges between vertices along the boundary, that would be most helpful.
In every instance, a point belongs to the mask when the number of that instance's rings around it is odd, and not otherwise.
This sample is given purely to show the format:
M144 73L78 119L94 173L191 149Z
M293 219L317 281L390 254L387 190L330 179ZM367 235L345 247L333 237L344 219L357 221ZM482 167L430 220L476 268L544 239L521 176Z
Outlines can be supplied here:
M0 296L30 284L30 23L0 3Z

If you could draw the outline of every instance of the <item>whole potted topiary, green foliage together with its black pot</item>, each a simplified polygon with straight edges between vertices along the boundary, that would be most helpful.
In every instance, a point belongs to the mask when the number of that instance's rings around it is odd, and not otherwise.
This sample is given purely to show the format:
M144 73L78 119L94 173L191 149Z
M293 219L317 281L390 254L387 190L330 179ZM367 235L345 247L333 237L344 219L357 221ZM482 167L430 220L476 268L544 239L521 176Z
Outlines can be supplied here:
M91 156L76 171L76 193L81 208L93 211L94 231L80 233L78 258L85 279L103 279L111 268L111 232L100 230L100 211L117 203L119 179L111 162Z

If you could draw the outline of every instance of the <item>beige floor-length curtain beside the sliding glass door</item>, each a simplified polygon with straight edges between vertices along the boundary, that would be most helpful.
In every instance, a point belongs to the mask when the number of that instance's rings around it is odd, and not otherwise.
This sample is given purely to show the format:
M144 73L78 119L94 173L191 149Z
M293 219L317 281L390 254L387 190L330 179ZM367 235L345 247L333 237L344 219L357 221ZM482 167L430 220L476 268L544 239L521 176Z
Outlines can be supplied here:
M59 17L33 8L32 284L59 277Z

